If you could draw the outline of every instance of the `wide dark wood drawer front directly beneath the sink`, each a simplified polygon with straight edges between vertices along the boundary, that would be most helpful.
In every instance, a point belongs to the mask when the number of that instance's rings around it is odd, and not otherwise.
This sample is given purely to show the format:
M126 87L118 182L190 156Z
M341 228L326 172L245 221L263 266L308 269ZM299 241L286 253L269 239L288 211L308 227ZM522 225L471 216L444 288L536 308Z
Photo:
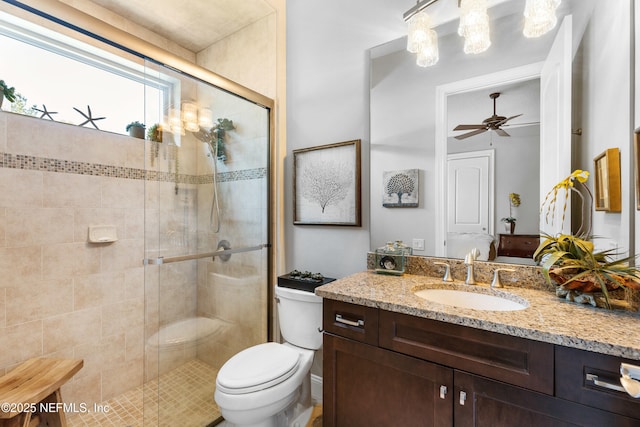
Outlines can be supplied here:
M553 395L553 344L380 310L380 347Z

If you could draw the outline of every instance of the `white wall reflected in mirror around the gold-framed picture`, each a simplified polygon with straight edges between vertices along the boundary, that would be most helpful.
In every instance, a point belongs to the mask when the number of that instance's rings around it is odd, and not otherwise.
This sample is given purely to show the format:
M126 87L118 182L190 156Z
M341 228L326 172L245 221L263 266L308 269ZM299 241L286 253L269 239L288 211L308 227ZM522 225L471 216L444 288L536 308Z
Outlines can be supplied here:
M613 6L617 7L613 7ZM622 174L622 212L595 212L593 234L597 247L629 250L635 204L631 170L633 120L630 64L630 2L596 4L594 17L584 37L582 98L582 136L578 138L580 155L575 168L591 172L593 158L607 148L620 148ZM607 64L603 67L603 64ZM625 108L629 106L629 108ZM594 179L590 178L593 189Z

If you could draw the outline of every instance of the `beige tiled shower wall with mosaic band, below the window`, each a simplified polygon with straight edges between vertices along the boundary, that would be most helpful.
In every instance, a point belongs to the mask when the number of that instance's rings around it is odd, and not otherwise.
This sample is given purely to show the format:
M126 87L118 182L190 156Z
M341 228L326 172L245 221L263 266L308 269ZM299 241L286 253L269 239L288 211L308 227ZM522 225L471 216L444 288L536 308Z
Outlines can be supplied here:
M198 349L214 367L266 340L266 251L142 264L212 251L221 239L236 248L268 241L267 116L231 104L224 117L237 129L229 159L217 163L219 233L209 225L211 159L193 138L182 140L176 192L166 146L151 166L149 142L0 112L0 375L31 357L82 358L63 395L91 404L154 378L145 342L175 320L233 324L215 348ZM116 226L118 241L89 243L89 226L103 224Z

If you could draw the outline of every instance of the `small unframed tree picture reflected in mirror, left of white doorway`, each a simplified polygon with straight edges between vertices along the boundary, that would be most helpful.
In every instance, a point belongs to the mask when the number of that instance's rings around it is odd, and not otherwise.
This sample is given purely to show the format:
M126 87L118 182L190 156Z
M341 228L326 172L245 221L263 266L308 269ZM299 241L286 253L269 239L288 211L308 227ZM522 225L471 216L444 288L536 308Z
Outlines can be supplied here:
M420 194L420 171L405 169L382 173L382 206L417 208Z

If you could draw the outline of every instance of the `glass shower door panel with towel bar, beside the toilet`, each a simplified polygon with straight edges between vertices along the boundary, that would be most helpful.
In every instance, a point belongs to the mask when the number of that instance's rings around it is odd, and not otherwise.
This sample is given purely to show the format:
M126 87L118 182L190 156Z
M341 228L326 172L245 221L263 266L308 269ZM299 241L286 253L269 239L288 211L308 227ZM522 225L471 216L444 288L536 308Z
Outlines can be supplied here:
M219 368L268 338L270 110L147 68L144 424L206 426Z

